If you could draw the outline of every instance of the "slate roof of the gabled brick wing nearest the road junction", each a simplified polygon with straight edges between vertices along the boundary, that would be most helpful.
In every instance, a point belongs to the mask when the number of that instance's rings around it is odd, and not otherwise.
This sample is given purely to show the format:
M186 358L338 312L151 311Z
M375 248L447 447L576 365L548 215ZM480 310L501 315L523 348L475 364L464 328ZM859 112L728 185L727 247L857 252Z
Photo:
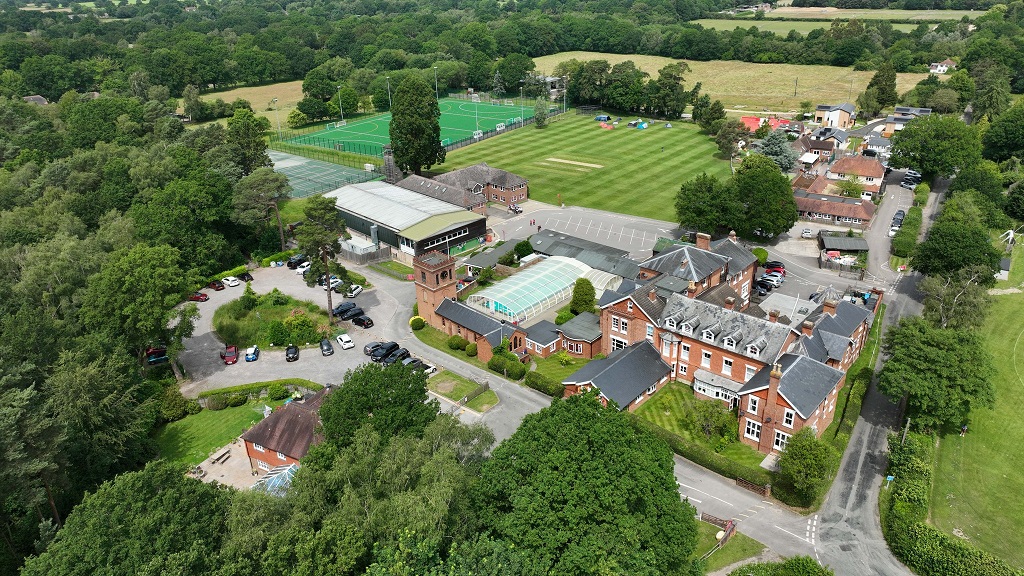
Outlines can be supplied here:
M793 406L801 418L807 419L843 379L843 372L806 356L784 354L778 359L782 377L778 395ZM772 365L758 370L739 389L743 396L768 387Z

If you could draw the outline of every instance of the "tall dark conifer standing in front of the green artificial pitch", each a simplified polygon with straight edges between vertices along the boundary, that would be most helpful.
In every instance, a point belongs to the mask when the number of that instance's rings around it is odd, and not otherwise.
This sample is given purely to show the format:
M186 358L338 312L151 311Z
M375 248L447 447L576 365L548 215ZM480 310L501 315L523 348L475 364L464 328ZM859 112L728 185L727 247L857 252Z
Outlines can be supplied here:
M434 90L418 75L410 75L394 92L391 108L391 149L403 171L420 174L423 168L444 162L440 109Z

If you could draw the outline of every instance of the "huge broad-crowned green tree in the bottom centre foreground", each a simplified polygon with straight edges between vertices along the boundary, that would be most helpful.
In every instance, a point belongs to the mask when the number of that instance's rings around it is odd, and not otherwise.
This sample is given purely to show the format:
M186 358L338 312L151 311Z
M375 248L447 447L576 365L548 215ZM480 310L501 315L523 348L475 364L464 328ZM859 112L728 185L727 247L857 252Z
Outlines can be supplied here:
M474 501L484 529L551 573L682 574L696 524L672 469L664 442L574 396L526 416L495 449Z

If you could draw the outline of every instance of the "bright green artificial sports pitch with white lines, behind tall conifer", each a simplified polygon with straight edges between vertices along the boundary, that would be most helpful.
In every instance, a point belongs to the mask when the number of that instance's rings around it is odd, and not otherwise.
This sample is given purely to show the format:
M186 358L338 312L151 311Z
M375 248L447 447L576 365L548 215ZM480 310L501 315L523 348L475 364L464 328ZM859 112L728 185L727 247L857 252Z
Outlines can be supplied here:
M472 138L474 132L487 132L518 127L523 119L534 117L534 105L515 99L472 101L460 98L441 98L437 102L441 112L441 143ZM290 138L288 142L330 148L367 156L381 156L384 145L391 141L388 125L391 113L373 118L346 122L344 126L329 124L329 128Z

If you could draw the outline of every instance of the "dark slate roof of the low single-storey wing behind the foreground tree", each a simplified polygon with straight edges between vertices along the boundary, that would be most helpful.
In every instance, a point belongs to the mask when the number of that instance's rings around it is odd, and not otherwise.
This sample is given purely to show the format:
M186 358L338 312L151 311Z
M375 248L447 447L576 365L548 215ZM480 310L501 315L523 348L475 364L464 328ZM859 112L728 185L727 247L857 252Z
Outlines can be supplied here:
M654 345L642 340L611 353L608 358L590 361L562 382L593 384L622 410L671 372Z

